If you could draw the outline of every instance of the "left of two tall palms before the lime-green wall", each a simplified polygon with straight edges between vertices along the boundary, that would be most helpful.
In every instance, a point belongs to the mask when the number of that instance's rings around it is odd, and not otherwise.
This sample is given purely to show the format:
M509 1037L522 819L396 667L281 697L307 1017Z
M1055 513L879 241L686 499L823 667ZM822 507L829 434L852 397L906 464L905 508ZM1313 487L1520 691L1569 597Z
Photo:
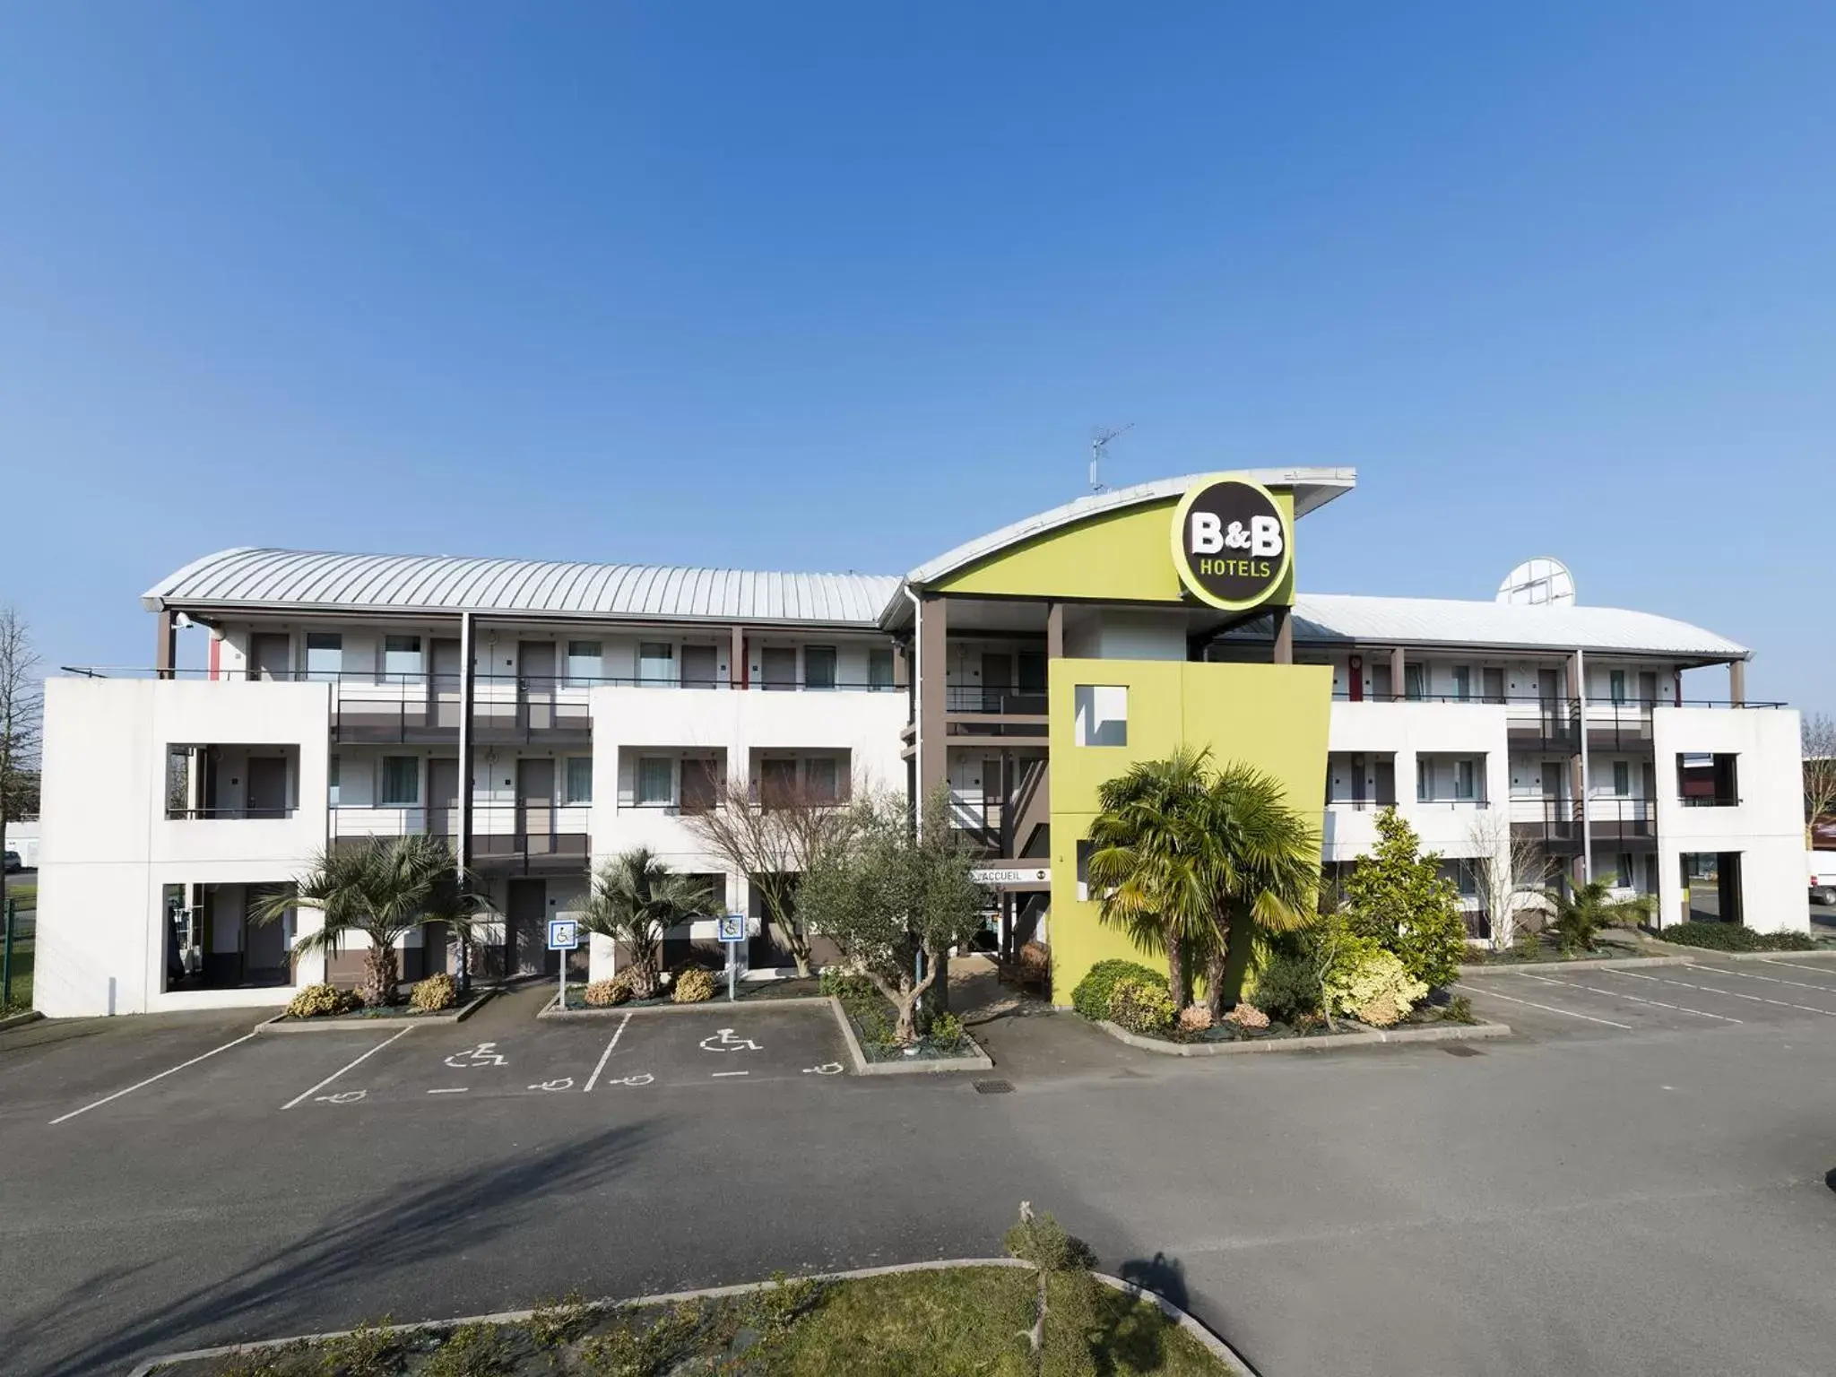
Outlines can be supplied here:
M1203 957L1215 922L1197 819L1210 784L1210 751L1181 745L1166 760L1138 760L1096 789L1089 883L1098 920L1166 955L1168 988L1190 1002L1188 958Z

